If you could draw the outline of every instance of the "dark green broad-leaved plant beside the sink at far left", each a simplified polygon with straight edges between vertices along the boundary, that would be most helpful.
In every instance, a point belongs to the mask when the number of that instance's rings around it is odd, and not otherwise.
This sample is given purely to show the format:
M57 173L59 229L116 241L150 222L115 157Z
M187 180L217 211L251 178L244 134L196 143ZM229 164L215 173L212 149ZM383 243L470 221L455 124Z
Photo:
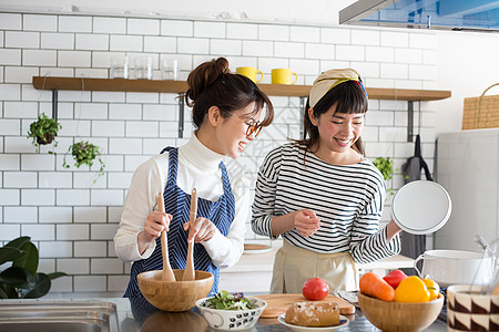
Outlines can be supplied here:
M0 272L0 299L38 299L47 294L51 280L64 272L37 272L38 249L30 237L17 238L0 248L0 266L11 266Z

